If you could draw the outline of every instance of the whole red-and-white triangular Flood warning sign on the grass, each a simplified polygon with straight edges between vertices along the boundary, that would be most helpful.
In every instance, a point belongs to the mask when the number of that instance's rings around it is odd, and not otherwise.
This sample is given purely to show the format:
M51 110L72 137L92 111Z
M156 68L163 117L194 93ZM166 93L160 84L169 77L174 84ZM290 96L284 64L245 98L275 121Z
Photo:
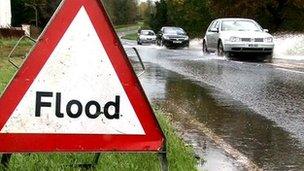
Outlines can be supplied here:
M157 151L164 136L99 0L64 0L0 99L0 152Z

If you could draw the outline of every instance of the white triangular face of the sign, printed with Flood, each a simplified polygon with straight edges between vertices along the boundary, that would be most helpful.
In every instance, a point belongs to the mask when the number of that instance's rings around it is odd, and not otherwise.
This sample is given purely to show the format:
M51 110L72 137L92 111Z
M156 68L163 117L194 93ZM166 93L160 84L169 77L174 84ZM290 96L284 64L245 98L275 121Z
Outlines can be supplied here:
M145 135L84 7L1 133Z

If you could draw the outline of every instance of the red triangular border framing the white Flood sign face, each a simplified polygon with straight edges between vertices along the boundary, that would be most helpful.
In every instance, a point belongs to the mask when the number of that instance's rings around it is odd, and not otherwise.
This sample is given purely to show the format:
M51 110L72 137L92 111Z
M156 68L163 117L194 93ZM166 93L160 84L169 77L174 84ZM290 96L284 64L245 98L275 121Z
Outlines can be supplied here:
M0 153L159 151L165 137L100 0L63 0L0 98L0 128L29 89L61 37L84 7L146 135L0 134Z

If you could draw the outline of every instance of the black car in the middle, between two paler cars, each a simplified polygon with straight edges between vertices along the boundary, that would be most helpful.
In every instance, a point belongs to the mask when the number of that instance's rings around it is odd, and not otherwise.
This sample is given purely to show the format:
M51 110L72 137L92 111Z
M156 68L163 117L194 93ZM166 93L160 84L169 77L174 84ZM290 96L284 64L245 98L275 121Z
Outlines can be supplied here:
M189 37L180 27L163 27L157 34L156 42L166 47L188 47Z

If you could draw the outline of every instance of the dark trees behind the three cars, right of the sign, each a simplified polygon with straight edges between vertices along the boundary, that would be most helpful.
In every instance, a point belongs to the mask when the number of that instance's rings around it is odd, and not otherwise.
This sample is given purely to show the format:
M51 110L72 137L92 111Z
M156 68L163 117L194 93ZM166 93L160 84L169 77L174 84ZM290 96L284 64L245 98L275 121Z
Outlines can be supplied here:
M155 31L179 26L191 37L201 37L213 19L223 17L255 19L272 32L304 31L303 0L160 0L151 8L146 25Z

